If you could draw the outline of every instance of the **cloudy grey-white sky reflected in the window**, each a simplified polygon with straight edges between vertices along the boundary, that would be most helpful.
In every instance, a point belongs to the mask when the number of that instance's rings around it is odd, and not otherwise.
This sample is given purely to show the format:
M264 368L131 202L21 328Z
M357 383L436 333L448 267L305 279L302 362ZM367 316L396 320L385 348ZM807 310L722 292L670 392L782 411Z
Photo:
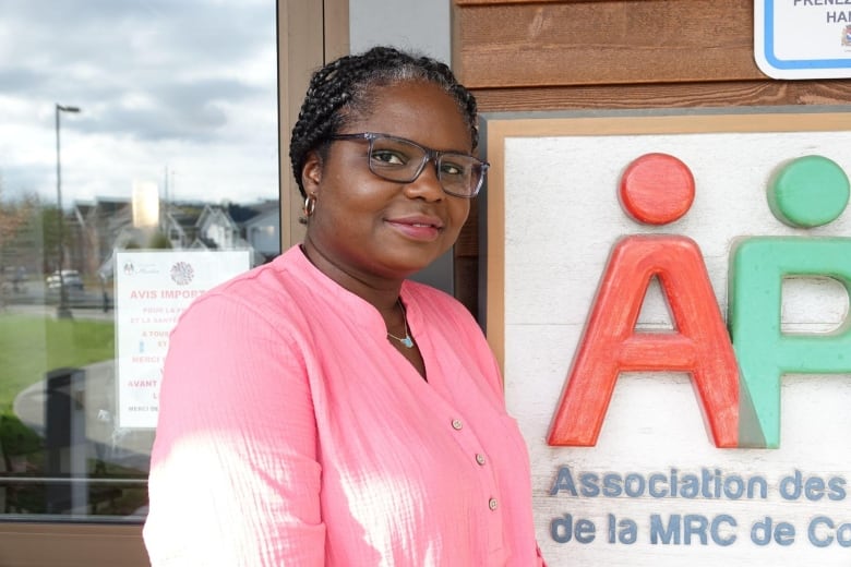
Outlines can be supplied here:
M278 191L275 0L0 0L0 198ZM166 184L168 193L166 195Z

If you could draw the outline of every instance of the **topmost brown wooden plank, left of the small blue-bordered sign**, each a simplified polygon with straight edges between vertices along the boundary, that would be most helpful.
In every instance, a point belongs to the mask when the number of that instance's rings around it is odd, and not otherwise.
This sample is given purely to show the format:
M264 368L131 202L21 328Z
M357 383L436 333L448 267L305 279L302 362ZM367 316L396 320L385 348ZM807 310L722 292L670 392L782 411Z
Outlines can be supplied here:
M753 80L753 2L642 0L456 9L471 88Z

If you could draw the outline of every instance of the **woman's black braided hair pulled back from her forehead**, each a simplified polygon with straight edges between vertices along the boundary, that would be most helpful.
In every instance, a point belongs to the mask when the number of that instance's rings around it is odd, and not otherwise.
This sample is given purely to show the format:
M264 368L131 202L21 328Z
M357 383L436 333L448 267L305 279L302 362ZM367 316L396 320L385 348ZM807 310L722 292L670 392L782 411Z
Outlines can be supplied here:
M360 114L369 111L376 87L407 81L434 84L452 96L476 148L479 142L476 98L458 83L445 63L392 47L373 47L363 53L332 61L314 72L310 80L289 144L289 159L301 196L307 196L301 170L308 154L317 149L324 156L328 137L341 130L352 111Z

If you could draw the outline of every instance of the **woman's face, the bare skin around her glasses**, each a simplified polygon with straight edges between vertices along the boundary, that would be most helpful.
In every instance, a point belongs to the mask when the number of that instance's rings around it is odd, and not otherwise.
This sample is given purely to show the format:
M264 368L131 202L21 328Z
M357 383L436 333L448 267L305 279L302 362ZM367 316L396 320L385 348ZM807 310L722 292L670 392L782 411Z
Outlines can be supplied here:
M470 152L455 99L429 83L380 87L370 113L353 116L340 134L374 132L439 150ZM316 206L304 245L359 281L398 280L418 272L457 240L470 202L441 189L429 162L410 183L387 181L369 169L369 142L334 141L326 159L312 155L304 189Z

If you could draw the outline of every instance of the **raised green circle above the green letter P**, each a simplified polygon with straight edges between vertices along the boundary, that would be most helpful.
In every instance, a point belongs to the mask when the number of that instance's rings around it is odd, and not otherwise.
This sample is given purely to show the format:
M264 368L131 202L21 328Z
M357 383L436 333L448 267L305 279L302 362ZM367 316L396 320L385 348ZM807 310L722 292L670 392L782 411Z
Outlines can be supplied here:
M768 206L781 222L820 227L839 217L848 205L848 176L824 156L804 156L786 164L768 188Z

